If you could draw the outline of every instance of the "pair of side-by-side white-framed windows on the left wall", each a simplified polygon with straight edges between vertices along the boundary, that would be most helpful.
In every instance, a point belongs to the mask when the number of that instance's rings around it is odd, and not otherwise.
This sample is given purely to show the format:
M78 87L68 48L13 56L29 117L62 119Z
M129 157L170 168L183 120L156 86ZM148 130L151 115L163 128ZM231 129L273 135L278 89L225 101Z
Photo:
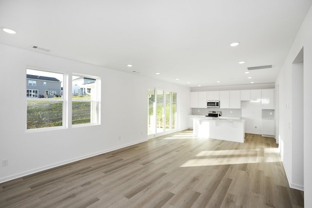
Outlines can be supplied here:
M32 69L26 69L26 77L27 130L99 123L99 77L69 76ZM63 86L64 77L72 79L72 93ZM69 95L68 100L72 102L68 102L64 95Z

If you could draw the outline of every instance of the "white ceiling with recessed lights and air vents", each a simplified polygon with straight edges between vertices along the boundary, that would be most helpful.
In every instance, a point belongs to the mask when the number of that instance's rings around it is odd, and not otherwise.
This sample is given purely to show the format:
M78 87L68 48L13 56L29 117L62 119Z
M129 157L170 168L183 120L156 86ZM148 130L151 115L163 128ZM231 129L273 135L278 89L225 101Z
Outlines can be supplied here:
M190 87L272 83L311 4L0 0L0 27L17 31L10 35L1 30L0 43ZM231 47L232 42L240 44ZM238 64L241 60L246 63ZM244 74L246 67L271 64L272 69Z

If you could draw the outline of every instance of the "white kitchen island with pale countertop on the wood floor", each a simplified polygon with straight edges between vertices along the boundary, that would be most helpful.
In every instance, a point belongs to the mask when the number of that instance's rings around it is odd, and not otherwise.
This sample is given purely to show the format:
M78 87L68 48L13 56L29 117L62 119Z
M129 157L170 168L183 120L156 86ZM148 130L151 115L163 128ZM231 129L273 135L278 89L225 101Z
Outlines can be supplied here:
M195 117L193 119L193 136L201 138L222 139L244 142L245 120Z

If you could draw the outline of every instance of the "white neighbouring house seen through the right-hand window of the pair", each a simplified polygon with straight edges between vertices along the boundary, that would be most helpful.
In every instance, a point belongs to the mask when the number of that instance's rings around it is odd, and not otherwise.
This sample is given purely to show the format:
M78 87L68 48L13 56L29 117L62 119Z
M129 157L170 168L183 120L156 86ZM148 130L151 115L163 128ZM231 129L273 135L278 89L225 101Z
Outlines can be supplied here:
M73 95L91 95L91 89L95 86L96 79L78 77L73 79ZM94 93L94 92L93 92Z

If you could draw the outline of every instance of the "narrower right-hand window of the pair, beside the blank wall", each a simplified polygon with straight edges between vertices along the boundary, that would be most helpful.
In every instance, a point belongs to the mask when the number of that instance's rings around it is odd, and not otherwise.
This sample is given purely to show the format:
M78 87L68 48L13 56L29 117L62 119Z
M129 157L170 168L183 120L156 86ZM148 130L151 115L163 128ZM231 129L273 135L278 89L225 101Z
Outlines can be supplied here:
M98 123L98 79L75 75L72 86L72 125Z

